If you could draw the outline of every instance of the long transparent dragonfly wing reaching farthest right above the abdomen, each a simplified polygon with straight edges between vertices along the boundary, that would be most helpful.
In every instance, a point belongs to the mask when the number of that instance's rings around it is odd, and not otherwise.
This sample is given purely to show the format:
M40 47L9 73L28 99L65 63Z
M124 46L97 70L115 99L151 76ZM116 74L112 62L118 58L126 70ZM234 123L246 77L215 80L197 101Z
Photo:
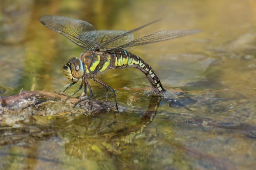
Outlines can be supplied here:
M118 46L117 48L127 48L127 47L134 47L144 44L150 44L154 42L159 41L165 41L168 39L174 39L183 37L190 34L196 34L201 32L201 30L165 30L165 31L159 31L138 39L135 39L131 42L127 42L123 45Z

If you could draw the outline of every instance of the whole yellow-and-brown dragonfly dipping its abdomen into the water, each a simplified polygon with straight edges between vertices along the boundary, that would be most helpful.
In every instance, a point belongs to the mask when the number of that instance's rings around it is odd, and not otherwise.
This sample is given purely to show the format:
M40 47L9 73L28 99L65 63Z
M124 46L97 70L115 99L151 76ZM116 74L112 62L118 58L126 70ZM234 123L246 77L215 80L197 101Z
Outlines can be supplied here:
M133 33L135 31L157 21L159 20L152 21L131 31L96 31L93 25L84 20L55 15L46 15L40 18L42 25L67 37L78 46L85 48L79 57L71 58L63 66L64 74L72 82L63 92L76 84L80 79L82 80L81 85L69 97L81 90L83 86L85 94L87 93L87 88L90 91L90 96L84 99L80 98L75 106L84 100L92 98L93 92L89 84L89 79L91 79L106 88L106 100L108 100L108 90L110 89L113 92L115 107L119 112L115 90L96 78L102 72L116 68L138 68L145 74L156 94L166 91L152 67L130 51L139 45L179 38L198 33L200 30L164 30L134 39Z

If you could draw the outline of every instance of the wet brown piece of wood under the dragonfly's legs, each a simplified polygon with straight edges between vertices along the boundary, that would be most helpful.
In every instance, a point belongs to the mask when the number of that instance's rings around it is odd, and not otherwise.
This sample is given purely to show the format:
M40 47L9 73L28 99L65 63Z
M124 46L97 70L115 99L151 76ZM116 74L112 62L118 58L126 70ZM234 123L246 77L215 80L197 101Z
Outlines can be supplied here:
M80 99L69 98L67 100L67 98L65 94L50 91L22 91L16 95L2 97L0 98L0 124L12 125L24 119L33 120L34 115L90 115L116 111L114 102L90 99L75 106Z

